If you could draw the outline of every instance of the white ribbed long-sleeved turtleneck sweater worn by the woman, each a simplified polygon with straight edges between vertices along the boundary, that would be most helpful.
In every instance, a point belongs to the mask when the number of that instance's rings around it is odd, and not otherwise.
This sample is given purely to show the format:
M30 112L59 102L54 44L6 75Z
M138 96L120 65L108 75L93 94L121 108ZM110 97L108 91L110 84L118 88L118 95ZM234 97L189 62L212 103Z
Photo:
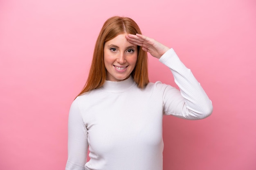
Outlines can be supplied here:
M174 50L159 61L171 69L180 91L159 81L139 89L130 76L74 100L66 170L162 170L163 114L190 120L211 114L211 100Z

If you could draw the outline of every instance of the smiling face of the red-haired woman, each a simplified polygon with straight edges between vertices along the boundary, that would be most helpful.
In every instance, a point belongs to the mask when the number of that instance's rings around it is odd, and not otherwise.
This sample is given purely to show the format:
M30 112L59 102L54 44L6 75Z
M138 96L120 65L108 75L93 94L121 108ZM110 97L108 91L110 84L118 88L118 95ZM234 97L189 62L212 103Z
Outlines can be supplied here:
M122 81L128 78L137 61L137 46L127 41L126 34L107 41L104 45L104 63L109 81Z

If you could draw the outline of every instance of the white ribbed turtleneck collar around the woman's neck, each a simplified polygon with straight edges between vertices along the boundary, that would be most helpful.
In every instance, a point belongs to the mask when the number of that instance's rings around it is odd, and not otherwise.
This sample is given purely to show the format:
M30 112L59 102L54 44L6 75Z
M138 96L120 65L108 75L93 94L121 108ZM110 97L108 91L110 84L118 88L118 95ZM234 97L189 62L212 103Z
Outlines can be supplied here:
M126 92L128 89L132 88L136 83L133 81L132 76L123 81L105 81L101 89L105 92L110 93L121 93Z

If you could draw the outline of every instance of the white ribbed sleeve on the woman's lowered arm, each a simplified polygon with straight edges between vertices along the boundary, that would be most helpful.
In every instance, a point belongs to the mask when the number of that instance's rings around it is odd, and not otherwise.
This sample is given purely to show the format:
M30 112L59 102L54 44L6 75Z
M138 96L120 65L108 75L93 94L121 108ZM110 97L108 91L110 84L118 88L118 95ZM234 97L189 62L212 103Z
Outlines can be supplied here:
M85 170L88 152L87 128L83 122L76 98L68 118L68 158L65 170Z

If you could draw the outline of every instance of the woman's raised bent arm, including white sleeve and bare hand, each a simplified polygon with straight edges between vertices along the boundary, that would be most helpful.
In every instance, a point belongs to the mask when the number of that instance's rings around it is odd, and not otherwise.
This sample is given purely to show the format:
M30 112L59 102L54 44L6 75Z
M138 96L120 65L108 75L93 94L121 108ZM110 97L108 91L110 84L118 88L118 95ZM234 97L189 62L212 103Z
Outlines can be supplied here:
M212 113L212 103L195 79L190 69L180 61L175 51L155 39L145 35L126 35L126 39L135 45L141 46L146 52L159 59L170 68L175 83L180 91L166 86L164 91L164 114L184 119L196 120L206 118Z

